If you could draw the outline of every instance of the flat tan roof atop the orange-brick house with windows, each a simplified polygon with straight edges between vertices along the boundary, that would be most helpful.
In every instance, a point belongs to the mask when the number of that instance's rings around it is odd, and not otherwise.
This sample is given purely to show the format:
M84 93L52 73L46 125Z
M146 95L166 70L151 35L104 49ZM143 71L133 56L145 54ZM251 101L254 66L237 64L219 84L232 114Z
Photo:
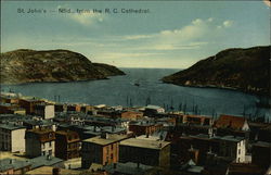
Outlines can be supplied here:
M101 146L111 145L117 141L126 139L127 135L108 135L108 138L102 138L101 136L92 137L83 140L83 142L92 142Z

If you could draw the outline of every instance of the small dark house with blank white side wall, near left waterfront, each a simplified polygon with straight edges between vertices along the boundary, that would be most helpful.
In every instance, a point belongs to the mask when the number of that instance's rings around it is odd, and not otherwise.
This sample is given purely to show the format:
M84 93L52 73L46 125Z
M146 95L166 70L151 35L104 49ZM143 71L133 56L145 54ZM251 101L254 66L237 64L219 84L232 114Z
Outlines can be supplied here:
M38 103L35 104L34 113L36 115L42 116L44 120L53 118L54 117L54 104L49 103Z

